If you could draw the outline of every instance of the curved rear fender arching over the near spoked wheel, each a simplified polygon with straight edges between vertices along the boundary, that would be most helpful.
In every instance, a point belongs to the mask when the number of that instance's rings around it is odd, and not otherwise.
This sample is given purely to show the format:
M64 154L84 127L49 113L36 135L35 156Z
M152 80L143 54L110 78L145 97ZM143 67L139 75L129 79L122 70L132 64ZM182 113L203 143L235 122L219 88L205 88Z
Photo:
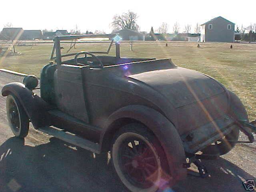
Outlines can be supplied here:
M114 112L109 118L106 126L102 131L100 137L100 144L107 145L104 142L105 137L112 137L113 126L111 124L118 119L129 118L141 122L147 126L160 141L168 164L172 178L175 180L181 180L186 176L186 169L182 167L183 163L186 163L186 156L182 140L174 127L174 125L160 112L148 108L146 106L132 105L123 107Z

